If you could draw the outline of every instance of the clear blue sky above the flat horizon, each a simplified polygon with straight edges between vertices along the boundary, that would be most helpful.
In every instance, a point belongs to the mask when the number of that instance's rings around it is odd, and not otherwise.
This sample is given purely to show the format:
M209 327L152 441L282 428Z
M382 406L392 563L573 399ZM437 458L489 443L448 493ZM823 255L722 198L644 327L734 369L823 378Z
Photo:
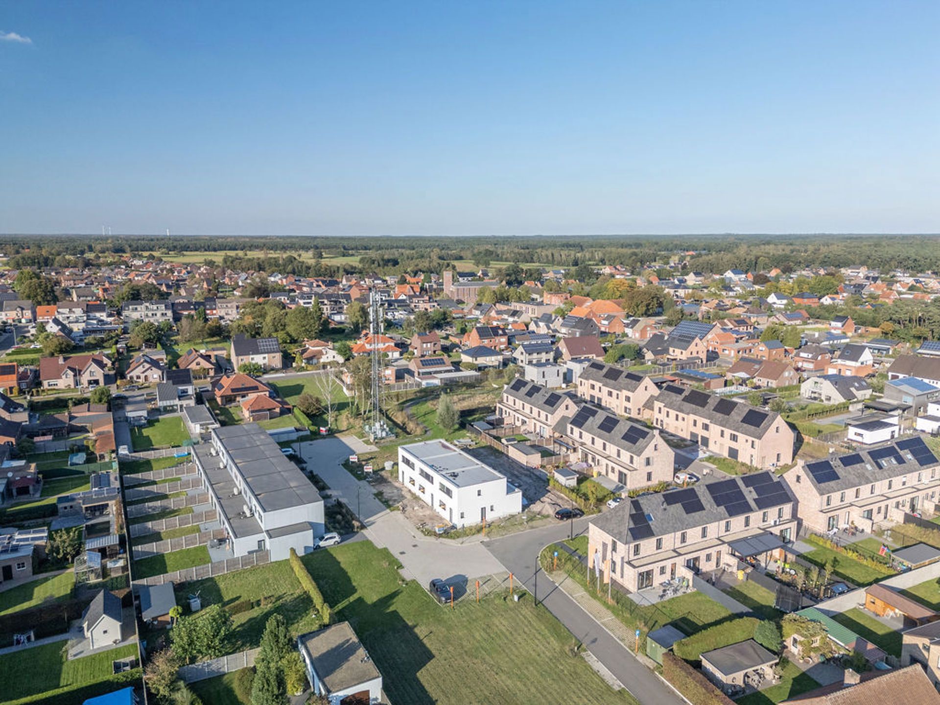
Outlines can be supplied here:
M935 0L8 0L0 232L937 232L938 29Z

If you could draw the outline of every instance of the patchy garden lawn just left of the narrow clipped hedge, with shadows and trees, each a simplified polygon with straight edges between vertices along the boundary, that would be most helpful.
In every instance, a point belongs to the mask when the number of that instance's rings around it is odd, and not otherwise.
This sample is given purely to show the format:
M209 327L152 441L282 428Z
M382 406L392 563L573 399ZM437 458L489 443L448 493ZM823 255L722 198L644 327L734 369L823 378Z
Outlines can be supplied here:
M311 632L320 626L310 597L301 588L286 560L187 583L177 591L177 603L187 604L186 596L196 591L202 598L203 606L217 603L231 605L243 600L252 603L250 609L232 616L234 630L229 643L231 652L257 647L264 625L275 613L287 621L293 636ZM184 609L188 611L188 608Z

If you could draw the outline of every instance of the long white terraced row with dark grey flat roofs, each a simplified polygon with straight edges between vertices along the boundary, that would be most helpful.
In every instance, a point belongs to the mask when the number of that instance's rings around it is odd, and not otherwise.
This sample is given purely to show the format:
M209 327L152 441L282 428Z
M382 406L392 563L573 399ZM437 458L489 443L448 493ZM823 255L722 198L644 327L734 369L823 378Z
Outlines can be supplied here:
M256 423L212 429L211 445L193 450L236 557L267 550L283 560L291 548L313 549L324 530L323 499L267 431Z

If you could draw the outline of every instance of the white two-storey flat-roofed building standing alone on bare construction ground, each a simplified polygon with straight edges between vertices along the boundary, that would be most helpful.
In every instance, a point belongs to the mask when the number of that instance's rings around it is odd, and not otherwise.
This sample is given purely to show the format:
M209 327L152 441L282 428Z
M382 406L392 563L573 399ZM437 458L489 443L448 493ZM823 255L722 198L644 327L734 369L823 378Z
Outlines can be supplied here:
M446 441L399 446L399 482L456 526L523 510L519 488Z

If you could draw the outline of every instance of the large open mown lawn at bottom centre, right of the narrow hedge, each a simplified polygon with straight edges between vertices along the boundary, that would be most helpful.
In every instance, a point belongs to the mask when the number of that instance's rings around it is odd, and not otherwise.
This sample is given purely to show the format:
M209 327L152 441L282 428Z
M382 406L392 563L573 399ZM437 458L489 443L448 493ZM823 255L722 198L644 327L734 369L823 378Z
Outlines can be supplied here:
M528 595L448 610L403 583L394 556L368 541L303 560L337 620L352 622L392 702L635 703L570 650L572 635Z

